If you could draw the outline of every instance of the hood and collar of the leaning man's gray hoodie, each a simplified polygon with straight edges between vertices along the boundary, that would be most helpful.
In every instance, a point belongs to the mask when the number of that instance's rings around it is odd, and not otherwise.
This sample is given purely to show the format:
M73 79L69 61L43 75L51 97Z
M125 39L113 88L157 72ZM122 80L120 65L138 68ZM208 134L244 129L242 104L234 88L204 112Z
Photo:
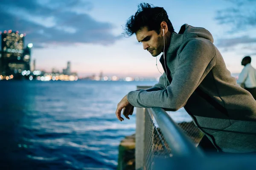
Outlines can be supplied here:
M212 34L205 28L193 27L188 24L184 24L180 27L179 33L172 33L170 46L167 53L174 53L180 47L180 45L189 38L204 38L210 40L213 43Z

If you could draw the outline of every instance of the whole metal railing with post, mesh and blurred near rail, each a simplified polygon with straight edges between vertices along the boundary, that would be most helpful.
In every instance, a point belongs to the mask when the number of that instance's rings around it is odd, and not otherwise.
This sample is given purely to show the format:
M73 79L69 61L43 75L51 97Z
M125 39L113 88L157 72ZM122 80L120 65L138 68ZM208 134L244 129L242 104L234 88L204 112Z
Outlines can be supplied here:
M150 87L137 87L147 88ZM162 108L137 108L135 169L256 169L256 153L207 153L204 156L196 147L202 136L193 122L176 123Z

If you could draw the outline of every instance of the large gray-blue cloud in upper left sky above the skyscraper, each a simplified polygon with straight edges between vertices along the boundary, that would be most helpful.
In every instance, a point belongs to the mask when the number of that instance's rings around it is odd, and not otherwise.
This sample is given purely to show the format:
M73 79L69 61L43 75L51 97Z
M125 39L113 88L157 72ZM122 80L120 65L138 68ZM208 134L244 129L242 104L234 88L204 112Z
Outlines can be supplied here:
M26 43L42 48L48 45L93 43L111 45L113 24L99 22L86 12L93 6L84 0L1 0L0 30L26 33Z

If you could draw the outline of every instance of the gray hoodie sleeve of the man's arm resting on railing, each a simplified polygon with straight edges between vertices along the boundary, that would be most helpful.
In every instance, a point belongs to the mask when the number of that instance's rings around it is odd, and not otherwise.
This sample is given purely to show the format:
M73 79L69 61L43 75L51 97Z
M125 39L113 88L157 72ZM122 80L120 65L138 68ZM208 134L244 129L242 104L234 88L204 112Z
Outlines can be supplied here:
M182 108L204 77L215 66L215 46L209 40L190 40L180 52L177 70L167 89L131 91L128 101L138 108Z

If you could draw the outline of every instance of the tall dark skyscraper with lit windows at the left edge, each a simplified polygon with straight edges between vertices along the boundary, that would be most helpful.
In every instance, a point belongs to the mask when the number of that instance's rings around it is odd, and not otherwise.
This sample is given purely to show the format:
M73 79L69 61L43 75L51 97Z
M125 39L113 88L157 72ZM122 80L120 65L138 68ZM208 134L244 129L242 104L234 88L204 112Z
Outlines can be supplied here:
M18 31L3 31L1 34L1 72L4 75L17 73L26 69L26 62L23 60L24 37L26 34L19 34Z

